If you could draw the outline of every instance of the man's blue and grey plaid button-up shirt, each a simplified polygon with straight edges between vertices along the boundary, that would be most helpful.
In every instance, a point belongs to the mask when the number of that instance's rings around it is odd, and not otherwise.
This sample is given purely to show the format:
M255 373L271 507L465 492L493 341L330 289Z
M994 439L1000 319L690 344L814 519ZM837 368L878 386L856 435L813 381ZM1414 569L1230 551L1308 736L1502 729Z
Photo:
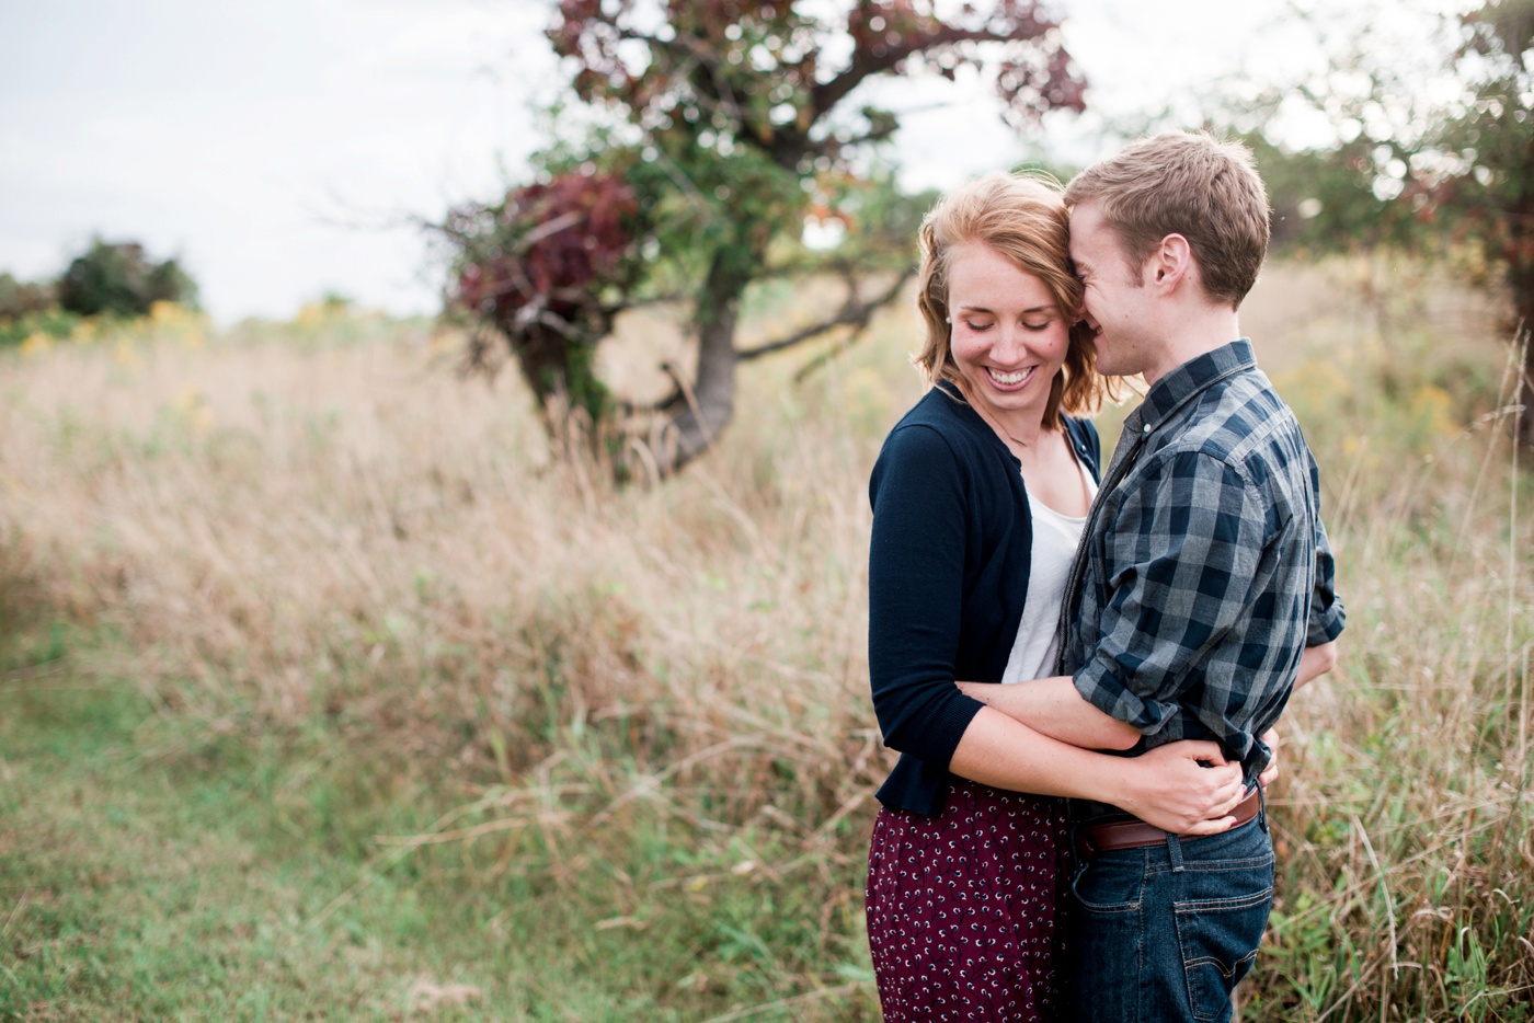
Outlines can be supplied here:
M1342 632L1319 477L1246 339L1124 420L1062 610L1060 670L1143 738L1215 739L1256 778L1307 646Z

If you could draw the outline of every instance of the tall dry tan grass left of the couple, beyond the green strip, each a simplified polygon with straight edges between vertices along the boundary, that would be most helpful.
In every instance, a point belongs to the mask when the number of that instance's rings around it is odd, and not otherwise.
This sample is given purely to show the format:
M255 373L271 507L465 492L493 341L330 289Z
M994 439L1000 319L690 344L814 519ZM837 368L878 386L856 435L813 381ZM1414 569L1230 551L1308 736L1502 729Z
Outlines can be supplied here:
M808 765L804 799L861 793L882 410L827 413L873 382L769 371L718 456L618 489L554 462L515 380L453 363L425 328L15 357L8 574L121 636L100 670L215 730L322 719L509 778L621 721L638 773L724 771L732 804L779 761Z

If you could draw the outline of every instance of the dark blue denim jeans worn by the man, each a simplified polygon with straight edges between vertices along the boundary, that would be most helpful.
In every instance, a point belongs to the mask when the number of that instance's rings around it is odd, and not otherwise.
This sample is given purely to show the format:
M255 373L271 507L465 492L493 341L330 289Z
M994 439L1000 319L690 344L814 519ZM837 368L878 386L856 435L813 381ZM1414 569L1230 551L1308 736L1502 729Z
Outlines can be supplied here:
M1226 1023L1273 905L1267 813L1224 834L1098 853L1071 888L1071 1018Z

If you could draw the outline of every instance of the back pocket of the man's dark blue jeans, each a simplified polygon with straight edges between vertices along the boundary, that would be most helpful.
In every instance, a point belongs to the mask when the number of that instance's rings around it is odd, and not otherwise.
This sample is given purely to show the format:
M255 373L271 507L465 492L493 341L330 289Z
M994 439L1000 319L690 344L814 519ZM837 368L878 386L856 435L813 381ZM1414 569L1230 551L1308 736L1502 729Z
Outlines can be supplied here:
M1259 880L1258 871L1232 871ZM1235 877L1224 877L1224 882ZM1172 905L1183 952L1183 979L1193 1018L1200 1023L1230 1018L1230 992L1252 969L1273 903L1272 867L1266 886L1249 894L1184 899Z

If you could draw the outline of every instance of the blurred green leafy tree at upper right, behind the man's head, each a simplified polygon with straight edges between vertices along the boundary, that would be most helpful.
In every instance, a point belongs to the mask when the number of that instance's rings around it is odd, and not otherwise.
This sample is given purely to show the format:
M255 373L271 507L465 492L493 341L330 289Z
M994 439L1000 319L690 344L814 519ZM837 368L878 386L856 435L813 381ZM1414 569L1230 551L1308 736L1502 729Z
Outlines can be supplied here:
M1534 445L1534 0L1431 15L1422 60L1382 38L1391 18L1348 8L1324 71L1243 115L1273 186L1276 235L1313 245L1451 241L1500 271L1523 347L1519 437ZM1335 137L1282 146L1296 110ZM1301 207L1304 204L1305 209Z

